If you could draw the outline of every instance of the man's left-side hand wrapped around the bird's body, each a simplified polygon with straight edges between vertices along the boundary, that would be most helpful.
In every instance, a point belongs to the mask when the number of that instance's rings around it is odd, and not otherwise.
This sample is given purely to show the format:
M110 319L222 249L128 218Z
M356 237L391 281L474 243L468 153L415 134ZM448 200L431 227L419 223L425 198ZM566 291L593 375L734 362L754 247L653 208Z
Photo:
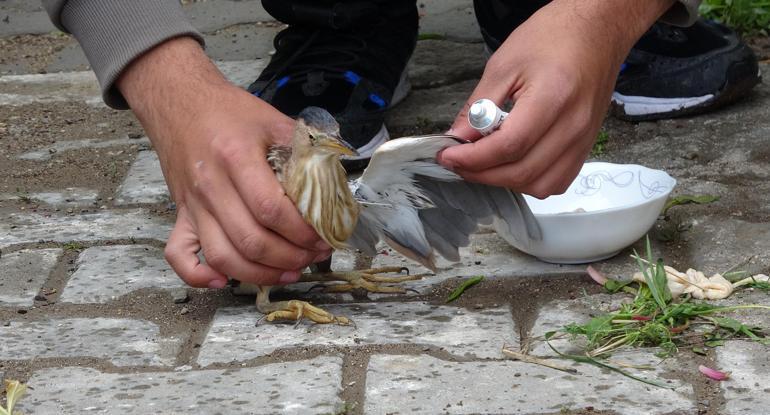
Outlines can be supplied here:
M155 47L118 87L152 140L177 204L165 252L186 283L221 288L226 275L290 283L330 255L267 164L268 147L288 143L294 122L228 83L194 40Z

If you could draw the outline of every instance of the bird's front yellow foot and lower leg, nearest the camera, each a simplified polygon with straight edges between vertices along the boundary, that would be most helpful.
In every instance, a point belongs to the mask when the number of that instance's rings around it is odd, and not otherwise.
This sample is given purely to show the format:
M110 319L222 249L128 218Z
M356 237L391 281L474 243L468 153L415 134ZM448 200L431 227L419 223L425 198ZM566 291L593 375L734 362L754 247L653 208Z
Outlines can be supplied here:
M270 302L270 286L259 285L257 292L257 310L265 314L267 321L295 320L299 324L303 318L315 323L336 323L343 326L351 324L351 321L342 316L335 316L326 310L318 308L307 301L289 300Z

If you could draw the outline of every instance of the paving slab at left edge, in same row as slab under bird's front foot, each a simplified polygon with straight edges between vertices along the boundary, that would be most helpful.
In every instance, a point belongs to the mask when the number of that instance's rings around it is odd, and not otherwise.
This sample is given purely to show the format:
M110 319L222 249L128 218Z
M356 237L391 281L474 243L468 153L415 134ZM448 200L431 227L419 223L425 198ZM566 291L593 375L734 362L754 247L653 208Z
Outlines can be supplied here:
M186 340L147 321L102 317L11 321L0 338L0 360L95 357L116 366L172 365Z

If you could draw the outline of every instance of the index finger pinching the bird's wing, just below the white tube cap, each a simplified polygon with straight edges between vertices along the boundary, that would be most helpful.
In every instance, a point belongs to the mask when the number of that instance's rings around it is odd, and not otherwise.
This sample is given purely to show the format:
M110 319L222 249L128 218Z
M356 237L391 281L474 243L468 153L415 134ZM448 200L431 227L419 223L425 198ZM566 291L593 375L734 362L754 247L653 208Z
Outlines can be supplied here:
M557 120L558 104L563 102L552 94L531 91L519 97L500 129L476 142L447 148L439 162L458 172L480 172L527 156Z

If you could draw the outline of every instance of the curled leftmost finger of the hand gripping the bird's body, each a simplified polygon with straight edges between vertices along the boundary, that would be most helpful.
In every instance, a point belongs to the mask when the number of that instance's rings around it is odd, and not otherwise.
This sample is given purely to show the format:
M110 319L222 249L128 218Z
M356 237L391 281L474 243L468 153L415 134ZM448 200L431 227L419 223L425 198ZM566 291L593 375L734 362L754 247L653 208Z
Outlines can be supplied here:
M166 243L166 261L187 285L198 288L224 287L227 277L209 265L202 264L198 259L199 250L198 235L193 230L187 210L181 207L176 225Z

